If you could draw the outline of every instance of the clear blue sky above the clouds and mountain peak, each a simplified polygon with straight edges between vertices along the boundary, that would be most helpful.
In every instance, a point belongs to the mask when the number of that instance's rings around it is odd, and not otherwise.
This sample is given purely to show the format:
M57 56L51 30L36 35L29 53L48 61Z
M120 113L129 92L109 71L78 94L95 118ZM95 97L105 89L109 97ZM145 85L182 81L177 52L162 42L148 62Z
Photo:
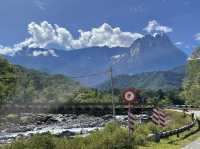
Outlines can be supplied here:
M144 35L148 22L155 20L171 29L168 35L180 49L191 53L200 43L199 18L199 0L1 0L0 48L28 39L31 22L57 24L78 38L79 29L91 31L104 23Z

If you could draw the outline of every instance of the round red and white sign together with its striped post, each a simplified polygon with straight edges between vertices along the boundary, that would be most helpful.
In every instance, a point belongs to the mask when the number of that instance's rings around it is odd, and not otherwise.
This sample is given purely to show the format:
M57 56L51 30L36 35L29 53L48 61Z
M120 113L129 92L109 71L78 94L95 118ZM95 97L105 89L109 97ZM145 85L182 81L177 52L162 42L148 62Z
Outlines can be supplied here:
M136 90L135 89L126 89L123 92L123 99L126 104L128 104L128 143L130 147L131 143L131 130L133 129L133 115L131 113L131 104L136 101Z

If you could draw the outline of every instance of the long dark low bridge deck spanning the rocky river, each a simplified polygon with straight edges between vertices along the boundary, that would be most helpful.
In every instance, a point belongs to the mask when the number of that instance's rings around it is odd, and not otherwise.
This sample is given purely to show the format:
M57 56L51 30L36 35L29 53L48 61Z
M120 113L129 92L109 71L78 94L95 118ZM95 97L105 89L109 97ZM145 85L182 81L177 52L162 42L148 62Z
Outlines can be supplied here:
M152 107L132 106L133 112L149 111ZM117 104L116 114L126 114L128 106ZM112 114L112 104L7 104L0 113L68 113L68 114Z

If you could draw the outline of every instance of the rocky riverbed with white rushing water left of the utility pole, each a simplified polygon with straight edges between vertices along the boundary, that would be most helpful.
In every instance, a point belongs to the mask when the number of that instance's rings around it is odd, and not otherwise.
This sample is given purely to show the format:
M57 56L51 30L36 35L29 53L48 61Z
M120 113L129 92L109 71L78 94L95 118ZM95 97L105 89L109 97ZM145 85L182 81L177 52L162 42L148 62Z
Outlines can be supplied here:
M0 144L10 143L21 137L37 133L57 136L87 134L102 128L112 120L112 115L95 117L72 114L9 114L0 116Z

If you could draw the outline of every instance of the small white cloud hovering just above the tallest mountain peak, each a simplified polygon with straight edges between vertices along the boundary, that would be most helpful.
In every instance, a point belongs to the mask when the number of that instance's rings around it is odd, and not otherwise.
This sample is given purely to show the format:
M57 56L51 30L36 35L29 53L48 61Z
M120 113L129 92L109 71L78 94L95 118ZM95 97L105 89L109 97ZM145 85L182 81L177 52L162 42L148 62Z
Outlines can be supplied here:
M148 25L143 30L147 31L148 33L168 33L173 31L173 29L168 26L160 25L156 20L149 21Z

